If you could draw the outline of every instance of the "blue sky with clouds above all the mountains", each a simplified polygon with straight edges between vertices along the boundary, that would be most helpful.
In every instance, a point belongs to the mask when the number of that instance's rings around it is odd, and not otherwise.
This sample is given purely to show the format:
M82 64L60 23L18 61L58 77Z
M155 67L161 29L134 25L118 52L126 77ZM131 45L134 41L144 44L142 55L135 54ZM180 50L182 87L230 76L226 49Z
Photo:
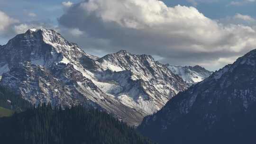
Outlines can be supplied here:
M256 0L0 0L0 45L55 29L87 53L150 54L211 71L256 48Z

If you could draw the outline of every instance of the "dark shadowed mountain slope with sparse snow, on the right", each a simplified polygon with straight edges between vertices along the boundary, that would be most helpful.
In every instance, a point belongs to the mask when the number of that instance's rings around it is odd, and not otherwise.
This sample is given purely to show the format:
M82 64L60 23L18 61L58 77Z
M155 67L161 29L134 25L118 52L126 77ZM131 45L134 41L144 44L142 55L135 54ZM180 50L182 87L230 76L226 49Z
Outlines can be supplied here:
M254 144L256 50L180 92L138 130L159 144Z

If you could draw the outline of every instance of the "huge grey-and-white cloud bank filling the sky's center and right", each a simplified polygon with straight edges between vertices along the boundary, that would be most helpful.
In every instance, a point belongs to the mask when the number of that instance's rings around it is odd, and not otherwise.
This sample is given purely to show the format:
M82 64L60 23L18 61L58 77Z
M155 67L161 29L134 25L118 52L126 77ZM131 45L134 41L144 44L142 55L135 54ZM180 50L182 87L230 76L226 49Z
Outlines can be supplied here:
M102 47L89 47L80 40L85 50L127 49L157 55L163 63L202 64L211 70L223 66L220 59L256 48L253 27L222 24L194 7L168 7L159 0L88 0L68 9L59 23L106 42Z

